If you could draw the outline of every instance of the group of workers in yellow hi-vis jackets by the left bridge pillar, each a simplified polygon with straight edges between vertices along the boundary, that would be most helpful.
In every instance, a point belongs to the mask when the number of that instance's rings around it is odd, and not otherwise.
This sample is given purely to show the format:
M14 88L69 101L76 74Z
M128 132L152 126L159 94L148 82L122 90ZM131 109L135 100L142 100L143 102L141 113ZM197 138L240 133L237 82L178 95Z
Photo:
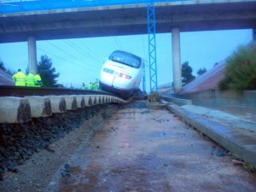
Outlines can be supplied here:
M26 75L25 73L21 72L20 69L18 69L18 72L13 75L13 80L15 81L15 86L42 86L42 79L38 73L36 75L34 75L33 73L28 73Z

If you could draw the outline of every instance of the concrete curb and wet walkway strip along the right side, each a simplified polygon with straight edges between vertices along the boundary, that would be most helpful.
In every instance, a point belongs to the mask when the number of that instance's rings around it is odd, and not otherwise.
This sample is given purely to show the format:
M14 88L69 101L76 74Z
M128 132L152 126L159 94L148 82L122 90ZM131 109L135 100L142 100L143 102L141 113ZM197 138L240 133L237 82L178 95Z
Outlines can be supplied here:
M169 104L167 108L237 158L256 167L256 123L252 119L194 105Z

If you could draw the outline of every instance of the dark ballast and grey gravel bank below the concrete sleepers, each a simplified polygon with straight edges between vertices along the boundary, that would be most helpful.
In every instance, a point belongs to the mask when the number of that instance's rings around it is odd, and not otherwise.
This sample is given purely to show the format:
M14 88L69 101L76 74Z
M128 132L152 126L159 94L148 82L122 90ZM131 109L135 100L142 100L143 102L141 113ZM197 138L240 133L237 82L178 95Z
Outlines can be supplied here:
M0 191L44 189L73 150L115 112L116 105L101 105L0 124Z

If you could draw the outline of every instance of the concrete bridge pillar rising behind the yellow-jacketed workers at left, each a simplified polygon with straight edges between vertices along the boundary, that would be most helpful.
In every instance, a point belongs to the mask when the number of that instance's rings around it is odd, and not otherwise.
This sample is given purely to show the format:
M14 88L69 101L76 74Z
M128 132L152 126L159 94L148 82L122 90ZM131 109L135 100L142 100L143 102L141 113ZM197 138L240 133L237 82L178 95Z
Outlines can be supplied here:
M37 42L36 38L29 36L27 38L28 45L28 71L30 73L38 73L38 62L37 62Z

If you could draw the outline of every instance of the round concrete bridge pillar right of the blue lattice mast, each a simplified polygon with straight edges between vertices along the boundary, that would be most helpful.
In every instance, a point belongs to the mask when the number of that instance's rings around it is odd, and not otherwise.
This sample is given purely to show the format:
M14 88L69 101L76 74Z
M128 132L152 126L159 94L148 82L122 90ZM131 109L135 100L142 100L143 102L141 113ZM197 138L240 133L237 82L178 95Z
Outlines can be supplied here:
M180 32L179 28L172 28L172 71L174 93L182 89L182 72L180 56Z

